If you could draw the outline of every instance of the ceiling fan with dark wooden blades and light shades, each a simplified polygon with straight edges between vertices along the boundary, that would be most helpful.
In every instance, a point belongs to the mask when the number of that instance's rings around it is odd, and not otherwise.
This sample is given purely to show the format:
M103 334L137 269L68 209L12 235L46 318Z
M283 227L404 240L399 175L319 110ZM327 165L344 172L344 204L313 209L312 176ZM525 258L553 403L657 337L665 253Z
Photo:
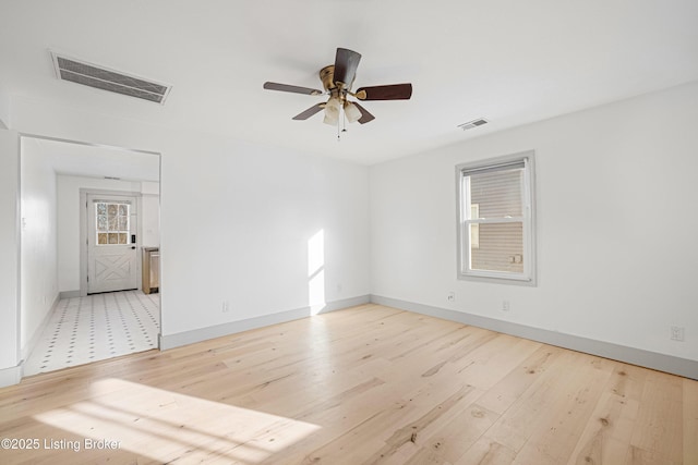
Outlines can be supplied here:
M328 95L327 101L312 106L293 117L293 120L308 120L321 110L325 110L323 122L337 125L337 127L339 127L339 117L342 111L350 123L358 121L360 124L364 124L375 119L365 108L357 101L350 101L348 97L354 97L363 101L408 100L412 96L411 84L360 87L356 93L352 93L351 86L353 85L360 60L360 53L346 48L338 48L335 64L329 64L320 70L320 81L322 81L325 90L269 82L264 83L264 88L312 96Z

